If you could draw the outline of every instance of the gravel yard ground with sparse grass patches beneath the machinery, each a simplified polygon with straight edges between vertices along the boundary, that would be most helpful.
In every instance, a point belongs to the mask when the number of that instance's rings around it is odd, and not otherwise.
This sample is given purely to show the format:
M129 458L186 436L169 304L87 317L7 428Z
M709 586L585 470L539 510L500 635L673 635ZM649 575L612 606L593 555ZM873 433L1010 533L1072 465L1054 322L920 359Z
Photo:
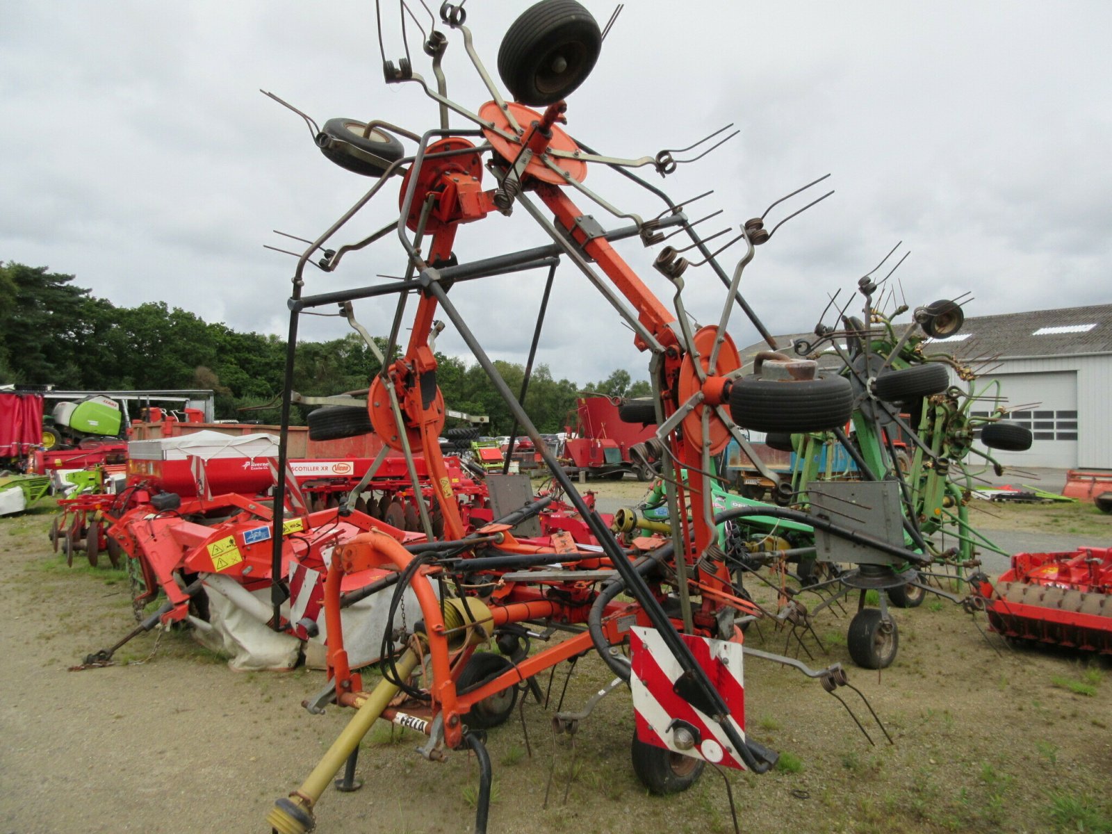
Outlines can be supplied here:
M644 492L634 481L594 488L619 502ZM69 672L133 620L123 574L67 568L51 553L51 512L0 519L9 612L0 633L0 831L267 831L275 798L300 783L350 713L310 716L299 706L322 685L320 673L236 674L180 632L140 636L117 666ZM1022 518L1011 508L993 516L1013 529ZM1095 524L1106 543L1106 525ZM813 661L786 633L749 629L749 645L788 645L813 666L844 664L895 743L883 741L853 693L840 691L875 746L816 682L747 659L747 729L784 755L771 774L727 774L744 831L1112 831L1106 664L1062 651L1011 652L950 604L927 602L897 620L900 655L883 674L852 666L845 617L816 622L825 655L805 636ZM556 673L553 702L569 668ZM608 678L585 656L565 708L582 708ZM539 683L547 688L547 675ZM604 698L574 737L553 735L554 707L524 707L532 756L516 712L490 731L489 831L734 830L724 782L712 771L685 794L645 794L629 767L624 689ZM318 831L474 830L474 761L457 753L429 764L413 752L416 743L373 729L359 766L366 786L327 792Z

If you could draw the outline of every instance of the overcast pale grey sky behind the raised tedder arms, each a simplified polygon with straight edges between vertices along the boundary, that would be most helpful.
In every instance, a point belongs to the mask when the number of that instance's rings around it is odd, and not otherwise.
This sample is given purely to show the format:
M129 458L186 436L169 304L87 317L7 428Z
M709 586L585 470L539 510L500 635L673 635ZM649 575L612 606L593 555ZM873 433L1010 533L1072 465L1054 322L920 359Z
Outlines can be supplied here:
M396 60L404 54L397 4L386 4L386 52ZM467 3L492 76L503 33L527 6ZM613 9L586 6L600 24ZM449 96L477 110L488 97L463 39L440 28L449 37ZM1104 304L1112 300L1109 32L1106 0L632 0L595 71L569 97L567 129L600 152L642 157L734 122L737 137L667 179L639 171L677 201L716 189L689 210L694 218L723 209L699 227L708 232L736 234L773 200L831 173L813 191L835 195L785 225L745 272L742 291L773 332L810 330L828 294L841 289L845 299L901 240L911 256L895 277L912 306L966 291L971 316ZM431 78L417 37L410 51L416 71ZM305 123L259 88L321 123L345 116L418 133L436 127L435 103L417 85L385 86L380 63L366 0L4 2L0 260L75 274L117 306L161 300L236 329L285 334L295 260L262 245L289 248L272 229L317 237L374 181L325 159ZM609 171L593 168L586 185L622 211L649 217L663 208ZM394 219L397 191L387 183L332 242ZM576 201L604 225L625 225ZM805 201L794 198L770 220ZM461 228L456 251L463 261L544 242L518 209ZM620 251L671 305L651 268L655 250L631 241ZM741 255L735 247L721 259L732 270ZM391 237L334 274L310 269L306 291L363 286L404 267ZM685 281L688 310L716 321L718 279L703 267ZM459 285L453 298L495 358L524 363L542 286L543 275L522 274ZM393 305L363 301L356 311L371 332L388 330ZM302 334L330 339L345 328L309 317ZM738 347L758 338L739 314L731 330ZM563 266L538 360L578 383L615 368L644 378L647 357L632 341ZM465 354L450 329L437 347Z

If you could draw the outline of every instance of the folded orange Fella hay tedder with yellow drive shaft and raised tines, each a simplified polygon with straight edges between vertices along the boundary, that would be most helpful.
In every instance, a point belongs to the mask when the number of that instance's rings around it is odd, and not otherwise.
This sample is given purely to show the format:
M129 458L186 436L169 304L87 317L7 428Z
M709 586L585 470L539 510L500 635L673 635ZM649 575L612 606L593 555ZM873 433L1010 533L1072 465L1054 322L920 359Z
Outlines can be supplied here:
M341 767L346 770L338 786L356 786L359 741L379 719L424 734L420 753L427 759L444 761L450 751L465 748L476 754L480 770L476 831L486 831L490 763L479 731L508 717L519 686L528 687L538 673L588 649L597 652L617 678L631 686L637 712L633 764L649 790L684 790L699 776L706 762L762 773L777 758L745 734L739 626L761 612L747 602L736 566L717 544L711 495L711 483L717 477L713 461L731 438L743 449L749 448L742 428L800 433L844 425L853 406L850 384L841 377L817 375L814 361L777 353L739 292L755 247L776 231L777 227L765 228L763 218L768 211L744 222L726 247L712 252L684 206L634 173L637 168L648 168L665 176L694 159L676 158L682 153L678 150L638 159L602 156L562 127L569 112L565 97L587 78L602 48L603 32L586 9L575 0L545 0L512 24L498 52L498 73L514 100L503 97L484 69L465 20L461 3L444 3L439 9L438 24L461 38L488 91L490 100L477 108L447 97L440 64L449 39L434 27L424 43L436 77L434 86L415 71L408 50L397 63L386 60L385 53L383 60L387 83L415 85L436 103L438 126L418 133L381 121L331 119L318 129L311 119L295 111L310 125L328 159L376 181L299 258L288 302L284 423L290 408L288 389L298 318L317 308L339 306L369 348L384 359L381 371L370 380L369 428L400 453L410 468L415 458L423 458L434 488L430 494L414 493L423 536L403 538L393 528L371 525L338 544L332 553L324 593L329 685L307 705L319 712L336 703L351 707L355 715L300 787L276 802L268 822L281 834L315 827L316 806ZM450 115L461 123L450 126ZM413 142L415 150L408 151L403 139ZM654 211L659 214L644 219L612 205L584 185L588 169L616 173L639 186L656 201ZM326 248L383 192L388 192L387 200L397 195L400 210L396 220L369 235L360 234L351 242ZM580 199L594 202L622 225L606 228L577 205ZM518 209L535 222L539 239L534 246L458 262L454 242L461 227L481 220L494 224ZM795 214L798 211L788 217ZM664 277L671 306L615 248L617 241L626 239L639 239L646 248L658 247L666 229L687 236L686 249L696 252L688 259L683 249L665 246L655 254L655 268ZM307 265L332 272L349 255L374 251L368 247L391 237L393 251L405 260L404 278L305 294ZM727 271L716 256L733 245L743 254ZM324 256L318 257L318 252ZM646 461L659 466L669 517L678 519L669 534L633 539L615 536L576 492L543 441L520 405L524 389L520 394L509 389L456 306L461 297L476 291L471 281L547 270L526 363L532 368L548 291L563 262L586 276L633 331L635 346L648 357L658 428L645 443ZM688 270L705 279L699 281L704 296L718 284L724 289L721 316L711 325L693 324L684 306ZM367 299L380 304L394 300L376 310L389 334L385 351L356 320L355 302ZM403 346L398 338L407 308L409 337ZM737 309L768 342L759 374L743 375L741 357L727 331L731 315ZM485 370L585 522L589 536L572 540L559 530L550 535L522 533L516 525L540 513L545 499L527 503L489 524L467 523L438 443L447 416L437 386L433 345L445 326L437 317L446 319ZM367 429L366 420L353 420L351 434ZM286 492L285 457L284 448L277 466L277 495ZM776 477L775 473L771 476ZM787 510L763 512L775 515ZM434 529L434 514L443 519L443 530ZM278 608L287 593L278 580L282 574L280 523L280 517L274 519L274 567L268 574L274 577L276 624L281 622ZM827 529L858 545L914 557L861 530L834 523ZM391 577L381 587L383 593L393 595L381 634L383 679L370 691L351 668L351 647L345 643L340 619L345 577L368 570ZM407 589L419 602L418 622L394 616ZM554 639L556 633L563 633L564 638ZM538 637L549 642L532 651L530 639ZM497 653L477 651L492 643ZM623 651L626 646L632 646L632 658ZM744 653L796 666L820 678L828 692L846 683L837 664L812 671L792 658Z

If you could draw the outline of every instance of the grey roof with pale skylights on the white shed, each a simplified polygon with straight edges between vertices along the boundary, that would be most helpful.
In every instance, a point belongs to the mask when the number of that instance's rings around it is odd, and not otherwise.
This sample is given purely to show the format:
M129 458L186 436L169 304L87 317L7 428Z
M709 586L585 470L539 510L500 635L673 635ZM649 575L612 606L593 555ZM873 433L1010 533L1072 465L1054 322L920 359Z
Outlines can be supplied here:
M906 321L896 325L896 335L903 334L906 327ZM1039 331L1042 332L1036 336ZM786 334L775 338L781 350L790 356L794 356L792 345L796 341L815 340L814 334ZM957 338L927 342L925 349L929 353L931 344L937 346L939 353L952 354L961 359L1112 354L1112 304L971 316L965 319ZM742 360L749 365L757 353L767 349L763 341L749 345L741 351ZM835 367L838 363L833 354L820 359L822 367Z

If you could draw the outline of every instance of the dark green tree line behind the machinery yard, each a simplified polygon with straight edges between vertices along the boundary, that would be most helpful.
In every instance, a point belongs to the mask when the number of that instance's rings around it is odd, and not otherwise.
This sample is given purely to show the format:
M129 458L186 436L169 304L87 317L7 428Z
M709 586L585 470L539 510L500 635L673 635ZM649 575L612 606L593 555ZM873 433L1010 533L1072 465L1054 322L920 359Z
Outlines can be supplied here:
M48 267L0 261L0 385L47 385L73 390L207 388L216 393L217 419L277 423L286 367L285 339L239 332L163 302L117 307L77 286L75 276ZM380 351L385 339L376 339ZM509 408L477 363L436 354L437 384L448 408L490 417L492 434L508 434ZM510 390L519 391L524 366L495 361ZM380 370L351 332L330 341L299 341L294 389L328 396L367 387ZM618 369L578 384L534 368L526 410L540 431L559 431L580 391L647 396L645 380ZM306 410L295 408L301 424ZM450 425L450 424L449 424Z

